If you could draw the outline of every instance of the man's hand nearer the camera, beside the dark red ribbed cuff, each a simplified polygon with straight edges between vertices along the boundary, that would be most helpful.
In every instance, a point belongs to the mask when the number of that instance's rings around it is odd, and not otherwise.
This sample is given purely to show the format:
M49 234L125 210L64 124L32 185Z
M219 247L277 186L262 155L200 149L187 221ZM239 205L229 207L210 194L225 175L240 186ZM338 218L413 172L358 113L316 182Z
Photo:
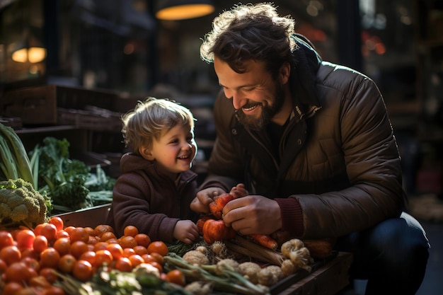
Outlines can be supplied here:
M267 235L282 228L280 206L274 200L259 195L228 202L223 209L223 221L242 235Z

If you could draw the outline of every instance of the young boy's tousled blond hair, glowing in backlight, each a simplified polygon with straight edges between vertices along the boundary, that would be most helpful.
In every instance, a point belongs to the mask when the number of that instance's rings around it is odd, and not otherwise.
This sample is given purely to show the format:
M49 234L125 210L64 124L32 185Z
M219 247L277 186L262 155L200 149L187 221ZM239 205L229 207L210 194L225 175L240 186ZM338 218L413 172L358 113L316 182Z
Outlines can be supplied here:
M123 139L130 151L139 154L141 146L151 149L154 139L159 140L163 131L179 124L193 132L194 120L192 112L183 105L167 98L148 97L122 116Z

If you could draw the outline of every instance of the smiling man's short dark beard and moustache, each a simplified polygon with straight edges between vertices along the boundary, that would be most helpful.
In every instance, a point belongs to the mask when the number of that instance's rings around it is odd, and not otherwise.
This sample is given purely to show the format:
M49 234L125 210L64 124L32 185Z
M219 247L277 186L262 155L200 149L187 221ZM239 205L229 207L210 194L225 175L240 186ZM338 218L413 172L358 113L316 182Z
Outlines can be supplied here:
M276 83L276 85L277 89L275 89L272 105L260 104L257 106L257 108L262 108L260 117L246 115L242 110L236 110L238 120L244 127L256 131L261 130L269 124L277 112L280 112L284 102L284 91L280 84Z

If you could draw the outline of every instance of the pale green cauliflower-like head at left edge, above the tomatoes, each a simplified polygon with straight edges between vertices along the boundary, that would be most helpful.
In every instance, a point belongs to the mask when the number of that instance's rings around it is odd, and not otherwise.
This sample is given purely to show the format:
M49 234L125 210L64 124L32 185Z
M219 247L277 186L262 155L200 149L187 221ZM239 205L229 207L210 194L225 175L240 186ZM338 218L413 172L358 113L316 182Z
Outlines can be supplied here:
M0 224L2 226L24 225L33 229L48 221L49 197L40 195L31 183L18 178L0 181Z

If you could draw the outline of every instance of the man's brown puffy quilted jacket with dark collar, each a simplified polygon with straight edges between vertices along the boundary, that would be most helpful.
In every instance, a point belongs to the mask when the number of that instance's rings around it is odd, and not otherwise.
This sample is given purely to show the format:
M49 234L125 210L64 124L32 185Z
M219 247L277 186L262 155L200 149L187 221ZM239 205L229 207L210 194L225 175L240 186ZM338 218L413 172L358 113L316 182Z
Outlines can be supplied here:
M343 236L399 216L405 204L401 158L379 89L357 71L321 61L296 38L294 108L278 155L265 130L238 122L221 92L202 188L245 183L251 195L275 199L282 230L300 238Z

